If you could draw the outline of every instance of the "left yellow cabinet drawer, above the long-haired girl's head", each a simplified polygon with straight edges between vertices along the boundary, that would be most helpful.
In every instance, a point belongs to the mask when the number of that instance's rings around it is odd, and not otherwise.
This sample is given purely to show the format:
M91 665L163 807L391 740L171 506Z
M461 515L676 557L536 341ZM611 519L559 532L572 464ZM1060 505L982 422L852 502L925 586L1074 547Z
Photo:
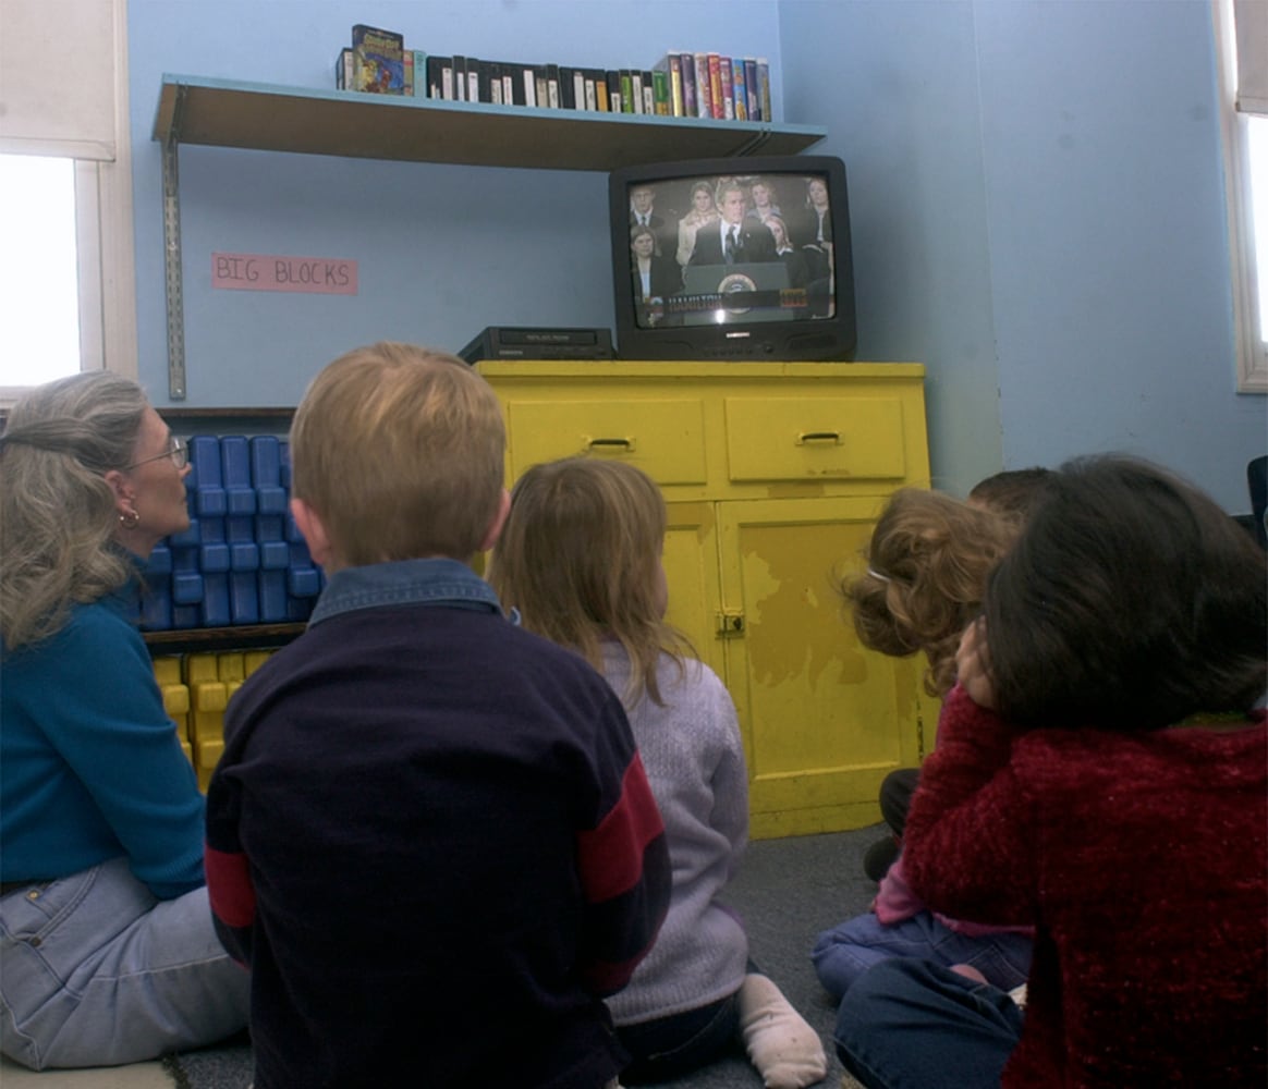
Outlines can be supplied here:
M658 484L705 483L704 406L659 401L506 402L511 475L540 461L586 454L620 458Z

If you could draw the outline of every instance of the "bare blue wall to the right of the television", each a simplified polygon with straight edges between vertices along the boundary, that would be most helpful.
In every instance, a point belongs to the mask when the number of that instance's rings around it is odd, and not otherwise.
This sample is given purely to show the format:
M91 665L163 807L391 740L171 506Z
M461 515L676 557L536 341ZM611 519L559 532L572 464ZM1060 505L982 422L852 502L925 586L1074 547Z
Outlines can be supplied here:
M851 169L860 358L928 365L937 482L1126 450L1249 510L1208 5L780 13L787 117Z

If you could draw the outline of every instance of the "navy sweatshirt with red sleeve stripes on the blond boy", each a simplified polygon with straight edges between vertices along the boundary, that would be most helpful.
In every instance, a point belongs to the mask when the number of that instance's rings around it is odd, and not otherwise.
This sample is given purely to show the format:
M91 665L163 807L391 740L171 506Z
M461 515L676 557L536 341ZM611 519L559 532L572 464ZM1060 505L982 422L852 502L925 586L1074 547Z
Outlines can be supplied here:
M604 680L481 596L320 617L231 702L207 873L256 1089L625 1061L602 996L664 915L661 816Z

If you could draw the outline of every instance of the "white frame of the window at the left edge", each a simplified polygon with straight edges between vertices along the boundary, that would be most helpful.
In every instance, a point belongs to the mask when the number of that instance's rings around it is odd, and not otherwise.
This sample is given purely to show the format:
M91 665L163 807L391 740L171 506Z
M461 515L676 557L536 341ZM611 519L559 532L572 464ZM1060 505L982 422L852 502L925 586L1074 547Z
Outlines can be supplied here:
M137 275L132 233L132 134L128 115L127 0L113 0L114 156L76 158L57 141L0 147L75 161L80 368L137 378ZM0 387L0 407L29 385Z

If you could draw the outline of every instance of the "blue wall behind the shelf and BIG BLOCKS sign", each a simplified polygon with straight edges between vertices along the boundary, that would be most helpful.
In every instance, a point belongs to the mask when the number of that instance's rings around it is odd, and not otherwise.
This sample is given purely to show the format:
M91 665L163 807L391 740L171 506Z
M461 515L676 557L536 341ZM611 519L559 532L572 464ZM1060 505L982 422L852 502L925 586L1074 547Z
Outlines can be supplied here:
M768 0L129 0L128 22L139 374L158 406L164 72L332 89L353 23L369 23L436 55L615 68L699 48L767 56L780 77ZM455 351L488 325L612 326L601 172L183 146L180 204L189 406L294 404L326 363L374 340ZM359 294L212 290L212 252L353 259Z

